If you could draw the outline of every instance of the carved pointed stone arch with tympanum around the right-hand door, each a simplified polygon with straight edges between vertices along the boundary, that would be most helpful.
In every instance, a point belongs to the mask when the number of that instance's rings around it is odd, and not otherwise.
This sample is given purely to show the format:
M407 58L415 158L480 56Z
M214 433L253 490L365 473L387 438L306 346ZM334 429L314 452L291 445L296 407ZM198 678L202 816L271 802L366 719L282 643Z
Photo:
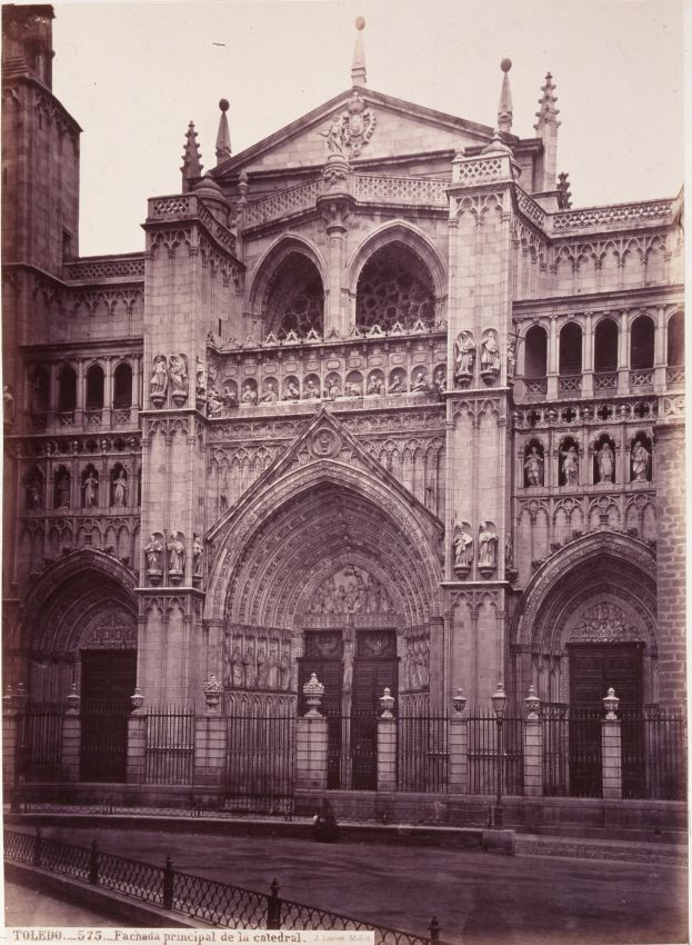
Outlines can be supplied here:
M644 645L644 700L656 697L655 558L643 541L603 530L568 543L533 576L514 615L511 646L521 698L545 663L566 665L569 643ZM566 702L566 673L541 697Z

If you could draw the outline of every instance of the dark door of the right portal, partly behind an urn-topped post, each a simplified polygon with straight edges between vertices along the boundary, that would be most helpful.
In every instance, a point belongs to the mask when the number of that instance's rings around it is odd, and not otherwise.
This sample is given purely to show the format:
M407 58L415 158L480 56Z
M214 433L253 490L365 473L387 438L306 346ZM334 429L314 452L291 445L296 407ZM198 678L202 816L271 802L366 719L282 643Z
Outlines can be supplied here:
M570 793L603 793L601 723L609 688L620 698L622 790L636 797L642 778L642 644L570 644Z

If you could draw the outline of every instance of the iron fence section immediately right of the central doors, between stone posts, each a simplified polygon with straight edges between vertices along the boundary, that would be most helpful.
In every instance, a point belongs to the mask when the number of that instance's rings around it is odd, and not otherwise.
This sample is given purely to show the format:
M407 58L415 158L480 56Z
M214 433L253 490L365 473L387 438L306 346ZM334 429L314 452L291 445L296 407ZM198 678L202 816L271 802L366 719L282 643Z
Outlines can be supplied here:
M447 793L449 764L445 716L397 718L397 790Z

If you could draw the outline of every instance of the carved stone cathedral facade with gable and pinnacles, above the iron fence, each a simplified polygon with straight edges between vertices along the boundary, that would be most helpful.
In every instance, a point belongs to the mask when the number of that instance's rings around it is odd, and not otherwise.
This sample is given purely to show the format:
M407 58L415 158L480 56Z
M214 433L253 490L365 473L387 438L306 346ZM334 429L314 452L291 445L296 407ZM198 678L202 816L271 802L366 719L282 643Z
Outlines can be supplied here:
M512 131L367 84L81 257L48 7L3 8L4 673L440 716L684 704L682 200L571 207ZM89 208L86 208L89 212ZM215 688L214 688L215 687Z

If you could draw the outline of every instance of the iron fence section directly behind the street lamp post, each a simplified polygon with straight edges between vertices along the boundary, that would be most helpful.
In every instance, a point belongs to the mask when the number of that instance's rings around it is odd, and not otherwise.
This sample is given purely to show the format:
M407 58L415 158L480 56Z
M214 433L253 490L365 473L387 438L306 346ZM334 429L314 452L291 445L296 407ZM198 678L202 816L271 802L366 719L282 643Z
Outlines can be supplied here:
M469 793L495 794L498 773L502 773L504 794L524 793L524 719L505 716L502 735L492 709L474 709L469 718ZM502 749L499 753L499 738Z

